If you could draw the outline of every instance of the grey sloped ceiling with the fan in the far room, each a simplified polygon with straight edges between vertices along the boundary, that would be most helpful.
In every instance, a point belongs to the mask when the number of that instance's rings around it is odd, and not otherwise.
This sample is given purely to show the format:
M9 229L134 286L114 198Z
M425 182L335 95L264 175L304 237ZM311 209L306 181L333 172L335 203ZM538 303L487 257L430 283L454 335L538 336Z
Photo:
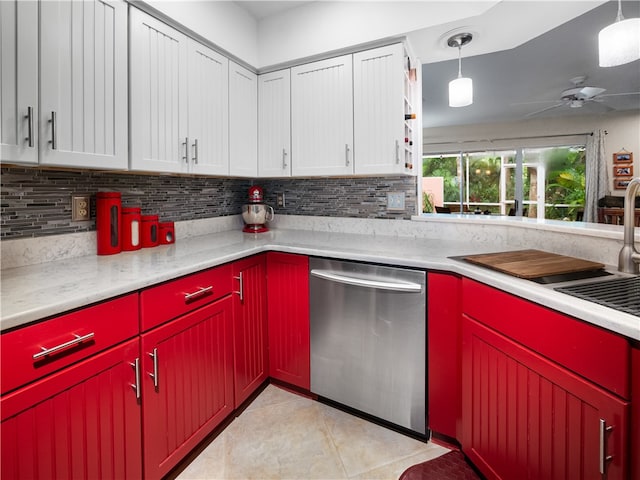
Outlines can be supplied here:
M448 82L457 76L456 60L424 64L423 124L425 127L504 123L539 117L600 114L636 110L640 95L606 96L581 108L562 106L535 116L529 114L556 105L571 79L586 75L586 84L606 88L604 95L640 92L640 61L619 67L598 66L598 32L613 23L616 2L602 4L515 48L467 57L462 49L462 72L474 82L474 103L451 108ZM640 17L640 2L623 2L626 18ZM479 39L482 41L482 39ZM472 41L473 45L475 39ZM450 48L457 55L457 50ZM640 135L640 133L639 133Z

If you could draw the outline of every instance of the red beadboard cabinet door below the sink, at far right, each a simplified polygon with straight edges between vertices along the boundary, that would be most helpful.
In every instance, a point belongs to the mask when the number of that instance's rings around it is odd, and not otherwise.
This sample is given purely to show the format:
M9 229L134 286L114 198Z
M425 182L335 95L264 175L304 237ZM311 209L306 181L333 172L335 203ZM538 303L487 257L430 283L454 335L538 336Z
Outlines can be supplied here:
M628 478L629 403L475 322L463 319L464 452L487 478Z

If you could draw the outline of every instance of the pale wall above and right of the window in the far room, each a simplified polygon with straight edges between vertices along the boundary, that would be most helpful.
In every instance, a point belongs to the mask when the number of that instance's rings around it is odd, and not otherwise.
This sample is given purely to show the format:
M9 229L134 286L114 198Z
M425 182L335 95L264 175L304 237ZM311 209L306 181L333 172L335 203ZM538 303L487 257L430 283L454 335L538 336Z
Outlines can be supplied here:
M522 122L487 123L458 127L425 128L423 153L500 150L514 146L536 147L585 142L585 136L554 137L554 135L606 130L605 155L608 162L609 194L624 195L613 189L613 154L623 148L633 152L634 177L640 176L640 113L609 113L557 118L538 118ZM523 137L545 137L528 140L500 140Z

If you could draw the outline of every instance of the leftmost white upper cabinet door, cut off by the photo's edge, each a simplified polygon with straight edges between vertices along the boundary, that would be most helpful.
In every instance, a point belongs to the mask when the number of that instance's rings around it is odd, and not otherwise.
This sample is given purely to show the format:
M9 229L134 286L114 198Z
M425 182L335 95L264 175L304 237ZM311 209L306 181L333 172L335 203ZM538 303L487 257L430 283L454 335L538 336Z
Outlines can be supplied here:
M38 2L0 1L0 161L38 163Z

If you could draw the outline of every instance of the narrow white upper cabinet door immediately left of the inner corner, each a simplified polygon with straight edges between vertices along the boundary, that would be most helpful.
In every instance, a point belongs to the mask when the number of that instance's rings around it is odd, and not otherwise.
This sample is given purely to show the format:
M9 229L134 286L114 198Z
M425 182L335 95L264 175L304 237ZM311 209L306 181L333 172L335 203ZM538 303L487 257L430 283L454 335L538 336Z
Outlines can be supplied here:
M229 173L258 175L258 77L229 62Z

